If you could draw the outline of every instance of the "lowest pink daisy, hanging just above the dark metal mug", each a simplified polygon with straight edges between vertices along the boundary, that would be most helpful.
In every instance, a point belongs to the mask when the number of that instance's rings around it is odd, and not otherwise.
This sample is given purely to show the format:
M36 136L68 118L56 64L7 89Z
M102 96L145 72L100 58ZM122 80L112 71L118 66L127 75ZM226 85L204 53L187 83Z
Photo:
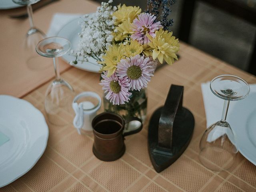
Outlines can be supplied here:
M124 104L124 102L128 102L130 100L129 96L132 94L128 89L129 83L127 77L118 77L116 73L112 74L112 76L107 77L107 72L103 72L102 80L100 85L103 86L103 90L105 90L106 99L110 100L114 105Z

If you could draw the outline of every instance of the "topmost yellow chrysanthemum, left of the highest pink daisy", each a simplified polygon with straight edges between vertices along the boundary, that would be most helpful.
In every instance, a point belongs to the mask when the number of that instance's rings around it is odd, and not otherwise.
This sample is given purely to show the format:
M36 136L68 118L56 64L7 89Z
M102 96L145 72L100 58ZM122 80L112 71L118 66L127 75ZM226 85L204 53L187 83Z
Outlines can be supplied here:
M140 7L132 7L132 6L126 6L125 4L118 5L118 10L113 13L112 16L116 19L115 25L119 25L128 18L130 18L130 21L132 22L137 15L141 13Z

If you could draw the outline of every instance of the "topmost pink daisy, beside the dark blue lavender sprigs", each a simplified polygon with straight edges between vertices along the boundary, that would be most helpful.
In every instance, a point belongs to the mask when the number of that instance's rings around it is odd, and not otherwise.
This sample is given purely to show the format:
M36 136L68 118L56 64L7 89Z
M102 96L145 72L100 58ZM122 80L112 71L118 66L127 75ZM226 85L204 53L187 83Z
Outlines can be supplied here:
M133 20L133 31L131 35L132 40L137 40L140 44L147 44L150 42L146 34L149 34L153 38L156 36L155 31L162 26L160 21L155 22L156 16L151 13L139 14L138 18Z

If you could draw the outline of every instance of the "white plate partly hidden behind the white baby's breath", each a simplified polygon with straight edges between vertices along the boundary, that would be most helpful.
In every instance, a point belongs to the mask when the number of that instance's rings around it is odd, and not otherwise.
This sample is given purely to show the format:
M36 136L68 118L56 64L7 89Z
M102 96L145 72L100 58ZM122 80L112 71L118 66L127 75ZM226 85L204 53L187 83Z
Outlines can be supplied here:
M71 42L72 44L71 50L74 50L74 51L78 49L78 43L80 39L78 36L78 33L80 33L82 30L81 26L78 24L79 20L82 20L82 18L77 18L75 20L72 20L58 32L59 37L64 37ZM62 56L62 58L68 63L72 62L75 59L75 57L70 54L66 54ZM99 73L100 67L101 67L101 65L98 64L96 60L93 58L88 58L88 62L78 62L78 64L71 64L71 65L78 69L82 69L82 70L90 71L94 73Z

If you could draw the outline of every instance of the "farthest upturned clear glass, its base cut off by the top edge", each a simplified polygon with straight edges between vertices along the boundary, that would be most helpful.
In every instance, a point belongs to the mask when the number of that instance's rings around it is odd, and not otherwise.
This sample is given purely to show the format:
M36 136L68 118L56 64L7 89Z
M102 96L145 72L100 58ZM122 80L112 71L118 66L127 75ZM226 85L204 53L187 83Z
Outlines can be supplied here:
M36 45L40 40L46 38L46 34L44 34L44 32L42 32L41 30L39 30L34 26L33 12L32 12L32 6L31 6L32 4L35 4L40 0L12 0L12 1L16 4L27 6L30 29L26 33L25 56L26 56L26 62L28 64L28 67L34 70L47 68L48 66L50 66L50 62L46 62L45 58L38 56L38 54L36 53Z

